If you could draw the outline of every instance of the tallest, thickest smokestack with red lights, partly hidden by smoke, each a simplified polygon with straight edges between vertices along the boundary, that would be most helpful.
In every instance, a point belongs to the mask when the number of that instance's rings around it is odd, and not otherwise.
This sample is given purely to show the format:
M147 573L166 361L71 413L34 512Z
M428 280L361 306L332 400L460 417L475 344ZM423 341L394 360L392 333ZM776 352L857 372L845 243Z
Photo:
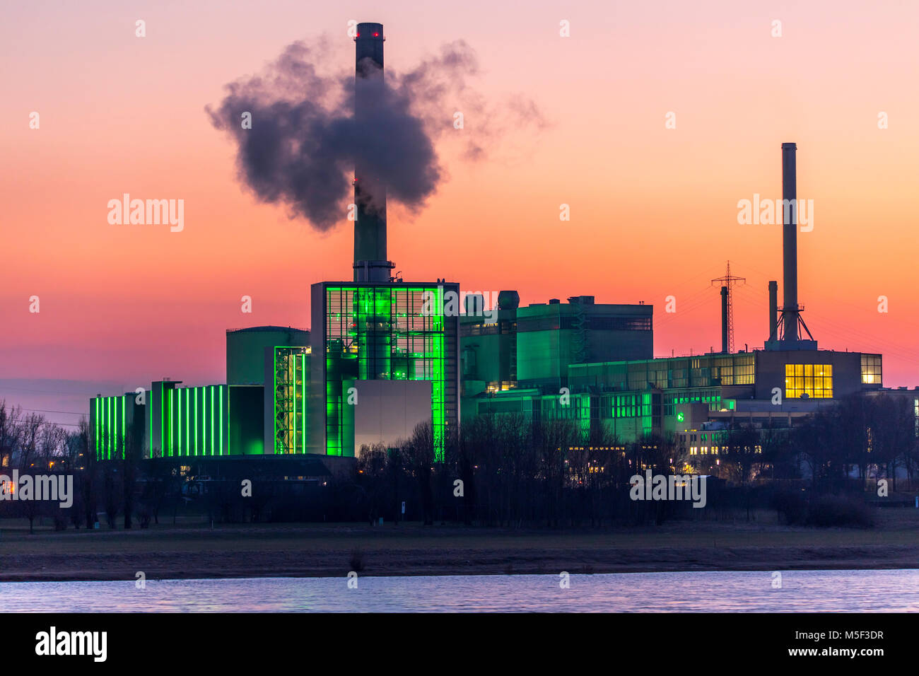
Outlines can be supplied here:
M354 42L356 118L375 109L383 79L383 25L357 24ZM375 80L380 80L375 83ZM390 281L392 263L386 258L386 185L355 166L354 281Z

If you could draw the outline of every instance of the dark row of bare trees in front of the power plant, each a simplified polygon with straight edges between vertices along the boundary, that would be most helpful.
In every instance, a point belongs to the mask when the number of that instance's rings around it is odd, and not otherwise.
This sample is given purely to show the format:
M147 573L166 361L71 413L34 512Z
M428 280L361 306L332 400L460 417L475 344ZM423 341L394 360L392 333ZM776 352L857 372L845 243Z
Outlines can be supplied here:
M808 496L856 495L874 478L887 478L891 491L898 473L912 480L919 443L911 402L893 395L850 396L791 430L739 422L716 432L709 453L694 455L672 434L623 442L602 425L576 420L482 416L443 439L422 423L394 447L362 448L352 475L330 476L300 493L263 481L245 498L238 477L197 493L192 488L200 477L183 467L191 459L179 464L155 452L157 457L145 459L142 430L124 440L120 458L101 462L92 453L96 440L85 419L68 431L0 401L0 474L17 468L74 475L71 509L3 501L0 515L26 517L30 527L48 516L63 529L94 527L101 513L108 527L120 520L130 529L158 523L163 513L175 520L176 510L192 502L218 521L383 518L558 528L709 518L729 508L745 508L749 518L756 506L789 500L804 509L800 487ZM712 509L701 515L688 502L631 499L631 477L648 470L709 476ZM300 504L305 502L310 504Z

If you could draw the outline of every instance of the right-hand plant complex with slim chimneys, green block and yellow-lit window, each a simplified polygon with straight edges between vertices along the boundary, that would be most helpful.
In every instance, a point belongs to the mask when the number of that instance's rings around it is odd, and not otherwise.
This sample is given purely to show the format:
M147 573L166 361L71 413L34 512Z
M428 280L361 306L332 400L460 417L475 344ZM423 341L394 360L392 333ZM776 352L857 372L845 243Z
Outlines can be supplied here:
M571 419L584 434L604 430L622 442L675 438L694 455L718 453L720 430L738 422L790 429L840 397L880 391L879 354L819 349L801 317L796 152L795 143L782 143L783 201L791 205L782 230L784 303L779 309L770 281L764 349L731 351L727 287L720 352L665 359L651 356L650 305L594 305L576 296L515 315L516 292L502 292L499 326L462 325L464 418ZM605 308L600 318L594 308ZM486 340L490 332L499 338Z

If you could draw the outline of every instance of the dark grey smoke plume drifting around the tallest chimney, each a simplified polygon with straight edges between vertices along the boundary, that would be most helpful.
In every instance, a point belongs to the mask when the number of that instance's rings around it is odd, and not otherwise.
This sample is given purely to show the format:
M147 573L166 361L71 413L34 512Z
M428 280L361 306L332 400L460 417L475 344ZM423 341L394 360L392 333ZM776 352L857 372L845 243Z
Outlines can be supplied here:
M327 53L323 41L315 49L294 42L261 74L227 85L219 106L206 108L214 127L233 137L240 181L260 201L288 206L291 218L323 231L344 220L356 165L370 181L385 183L389 201L417 212L445 176L435 139L454 130L455 110L490 120L464 134L465 158L482 159L489 139L501 133L494 128L500 116L486 112L467 84L479 66L462 40L412 71L387 69L385 79L361 78L357 85L353 67L327 74ZM361 97L369 94L376 104L360 115L354 114L356 86L368 87ZM535 105L523 106L509 109L525 111L541 128ZM245 113L251 128L244 128Z

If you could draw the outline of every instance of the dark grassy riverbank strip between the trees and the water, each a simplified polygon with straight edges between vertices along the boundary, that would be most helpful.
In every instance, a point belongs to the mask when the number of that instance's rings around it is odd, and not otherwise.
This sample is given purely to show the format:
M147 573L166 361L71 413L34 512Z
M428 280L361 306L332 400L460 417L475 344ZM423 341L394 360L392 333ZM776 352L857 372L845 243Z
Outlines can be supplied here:
M146 530L28 534L0 521L0 581L495 575L672 570L919 567L919 510L879 510L872 529L758 521L674 521L614 530L456 525L239 524L179 521Z

